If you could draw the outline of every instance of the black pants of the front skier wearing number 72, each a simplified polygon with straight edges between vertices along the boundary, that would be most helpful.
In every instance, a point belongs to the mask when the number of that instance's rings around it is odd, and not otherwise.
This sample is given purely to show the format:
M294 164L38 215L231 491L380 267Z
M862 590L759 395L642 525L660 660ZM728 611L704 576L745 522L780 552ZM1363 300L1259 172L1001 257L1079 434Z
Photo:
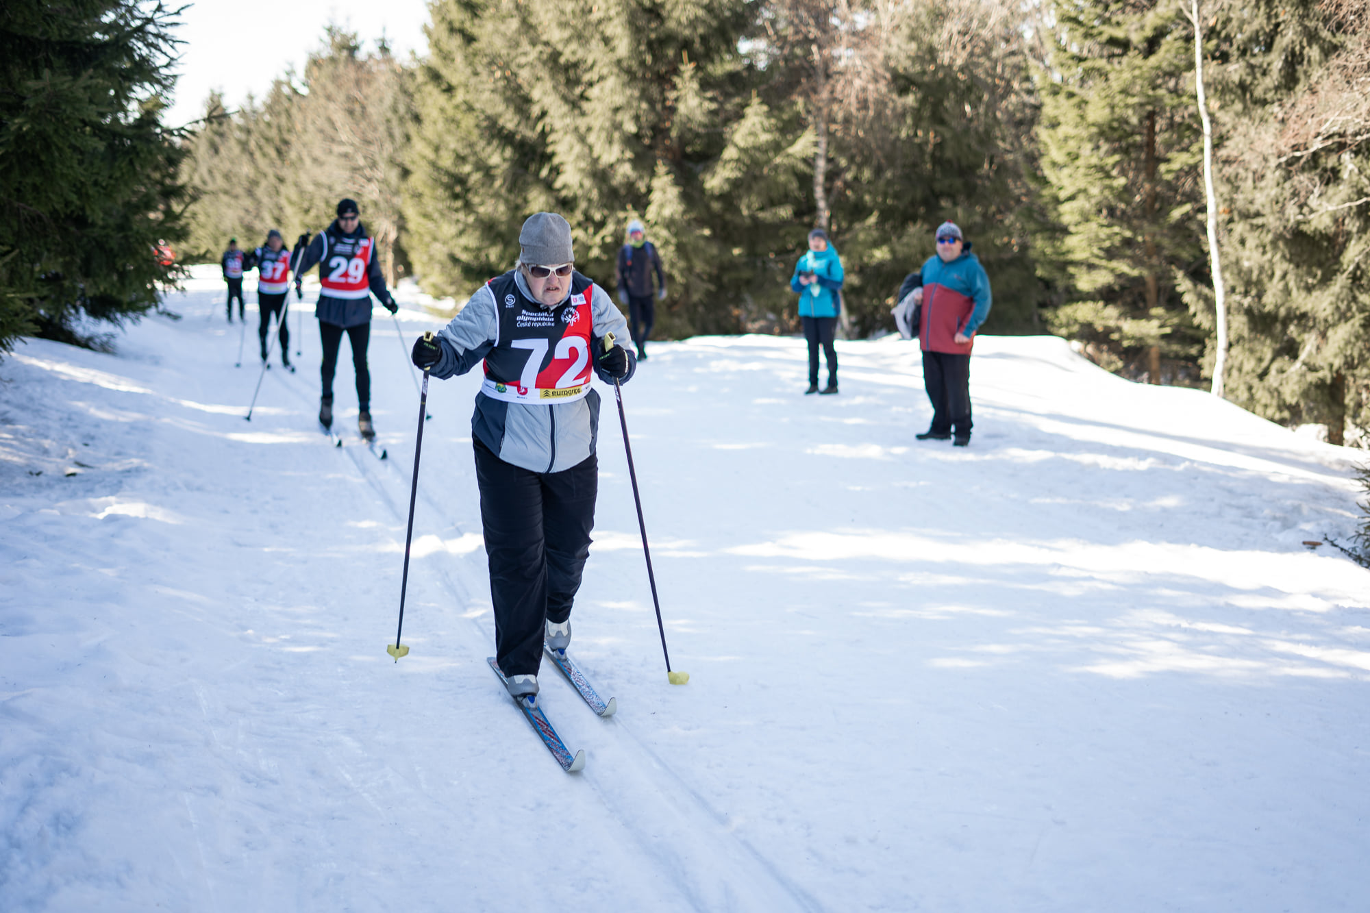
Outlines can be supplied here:
M507 676L534 676L547 621L571 616L590 554L599 462L534 473L475 439L475 480L495 603L495 658Z

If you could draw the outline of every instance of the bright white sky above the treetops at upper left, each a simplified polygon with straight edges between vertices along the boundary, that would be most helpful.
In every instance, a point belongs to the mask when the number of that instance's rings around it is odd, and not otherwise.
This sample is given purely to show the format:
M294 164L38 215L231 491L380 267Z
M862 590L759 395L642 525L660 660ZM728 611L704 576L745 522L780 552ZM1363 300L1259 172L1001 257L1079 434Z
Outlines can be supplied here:
M364 47L384 30L403 59L427 49L427 18L426 0L200 0L181 16L181 78L164 122L181 126L200 117L210 89L221 89L230 110L248 93L262 97L288 67L304 70L329 22L356 32Z

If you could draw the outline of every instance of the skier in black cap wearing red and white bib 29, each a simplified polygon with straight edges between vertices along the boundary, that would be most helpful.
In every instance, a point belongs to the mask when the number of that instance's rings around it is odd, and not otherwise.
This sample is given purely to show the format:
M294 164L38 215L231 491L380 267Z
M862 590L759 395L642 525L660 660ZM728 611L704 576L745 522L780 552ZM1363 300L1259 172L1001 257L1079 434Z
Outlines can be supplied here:
M366 347L371 339L371 295L395 314L400 306L385 288L381 260L375 255L375 239L366 233L356 200L338 203L337 219L314 236L295 267L295 291L300 292L304 274L319 265L319 302L314 314L319 318L319 339L323 341L323 393L319 398L319 424L333 426L333 374L337 370L342 333L352 343L352 367L356 372L356 399L362 414L358 430L370 440L375 437L371 425L371 373L366 366Z

